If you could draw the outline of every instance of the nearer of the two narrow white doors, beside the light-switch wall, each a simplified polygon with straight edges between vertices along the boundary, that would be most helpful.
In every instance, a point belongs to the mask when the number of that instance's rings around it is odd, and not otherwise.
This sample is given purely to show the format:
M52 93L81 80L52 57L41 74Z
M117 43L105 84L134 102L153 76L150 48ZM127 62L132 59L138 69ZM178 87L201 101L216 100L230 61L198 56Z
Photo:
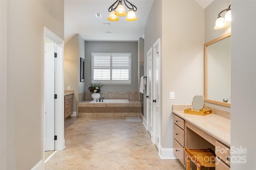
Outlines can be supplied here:
M154 143L158 148L159 142L159 67L160 67L160 39L158 39L153 46L153 128L154 128Z

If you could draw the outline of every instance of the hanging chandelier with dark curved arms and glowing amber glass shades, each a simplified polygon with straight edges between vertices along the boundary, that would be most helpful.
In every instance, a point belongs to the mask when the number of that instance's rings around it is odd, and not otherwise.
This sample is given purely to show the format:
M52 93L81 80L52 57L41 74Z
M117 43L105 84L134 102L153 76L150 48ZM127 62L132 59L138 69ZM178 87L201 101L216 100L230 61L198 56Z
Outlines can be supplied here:
M135 11L137 11L137 7L129 2L128 0L124 0L125 6L129 9L128 14L125 11L124 5L122 4L123 0L116 0L114 4L112 4L108 8L108 12L110 12L108 20L110 21L118 21L118 16L126 16L127 21L135 21L137 20L137 17L135 15Z

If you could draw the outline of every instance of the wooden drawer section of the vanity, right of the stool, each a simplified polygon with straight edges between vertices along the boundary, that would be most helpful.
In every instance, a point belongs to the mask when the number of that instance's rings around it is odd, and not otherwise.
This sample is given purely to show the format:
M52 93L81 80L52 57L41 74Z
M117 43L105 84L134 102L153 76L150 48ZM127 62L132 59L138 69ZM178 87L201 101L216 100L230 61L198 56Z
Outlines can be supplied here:
M215 154L216 170L230 170L230 148L216 141Z

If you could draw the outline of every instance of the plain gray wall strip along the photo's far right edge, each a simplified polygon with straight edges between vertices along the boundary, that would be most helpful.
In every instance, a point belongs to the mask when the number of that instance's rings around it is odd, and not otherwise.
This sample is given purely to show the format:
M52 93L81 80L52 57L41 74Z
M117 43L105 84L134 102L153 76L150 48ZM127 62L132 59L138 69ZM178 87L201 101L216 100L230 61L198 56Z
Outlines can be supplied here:
M232 170L256 169L256 1L231 0L231 146L246 154L246 163L231 163Z

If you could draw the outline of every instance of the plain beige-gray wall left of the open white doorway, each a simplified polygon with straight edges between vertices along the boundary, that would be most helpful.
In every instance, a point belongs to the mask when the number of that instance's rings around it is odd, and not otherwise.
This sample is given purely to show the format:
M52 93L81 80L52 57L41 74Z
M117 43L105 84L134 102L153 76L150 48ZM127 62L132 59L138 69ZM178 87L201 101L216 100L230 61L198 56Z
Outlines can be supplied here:
M0 7L0 169L30 170L44 154L42 26L64 39L64 1L0 1Z

